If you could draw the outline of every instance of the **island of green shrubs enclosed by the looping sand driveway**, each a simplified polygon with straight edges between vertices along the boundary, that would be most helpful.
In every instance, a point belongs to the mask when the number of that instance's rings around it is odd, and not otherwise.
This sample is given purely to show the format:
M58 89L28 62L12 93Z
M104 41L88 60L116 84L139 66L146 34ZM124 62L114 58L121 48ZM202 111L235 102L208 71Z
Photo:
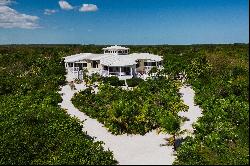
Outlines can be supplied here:
M143 81L131 91L105 83L99 86L97 94L88 88L75 94L72 102L113 134L144 135L156 128L172 132L173 124L181 121L177 113L187 110L179 87L180 82L164 77Z

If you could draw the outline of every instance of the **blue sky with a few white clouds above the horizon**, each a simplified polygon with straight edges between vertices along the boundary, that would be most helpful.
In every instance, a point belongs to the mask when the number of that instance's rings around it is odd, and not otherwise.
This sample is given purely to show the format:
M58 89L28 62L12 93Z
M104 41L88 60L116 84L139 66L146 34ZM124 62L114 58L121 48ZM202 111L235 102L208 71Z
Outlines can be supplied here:
M248 0L0 0L0 44L249 43Z

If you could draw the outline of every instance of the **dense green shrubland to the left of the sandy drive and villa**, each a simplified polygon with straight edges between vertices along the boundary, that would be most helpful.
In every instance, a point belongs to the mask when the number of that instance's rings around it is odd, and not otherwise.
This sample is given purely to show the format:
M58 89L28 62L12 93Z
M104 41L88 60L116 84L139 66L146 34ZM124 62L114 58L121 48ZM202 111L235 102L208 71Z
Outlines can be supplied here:
M0 47L0 164L116 164L58 103L72 47Z

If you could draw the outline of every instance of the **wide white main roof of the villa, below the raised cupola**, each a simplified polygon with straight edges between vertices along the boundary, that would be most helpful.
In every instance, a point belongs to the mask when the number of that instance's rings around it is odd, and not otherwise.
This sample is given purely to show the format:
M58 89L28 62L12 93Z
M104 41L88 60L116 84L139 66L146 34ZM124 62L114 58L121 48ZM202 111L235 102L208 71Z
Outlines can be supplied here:
M65 57L65 62L77 62L81 60L100 60L100 64L105 66L130 66L136 64L136 60L139 59L150 61L162 60L160 56L149 53L133 53L129 55L81 53Z

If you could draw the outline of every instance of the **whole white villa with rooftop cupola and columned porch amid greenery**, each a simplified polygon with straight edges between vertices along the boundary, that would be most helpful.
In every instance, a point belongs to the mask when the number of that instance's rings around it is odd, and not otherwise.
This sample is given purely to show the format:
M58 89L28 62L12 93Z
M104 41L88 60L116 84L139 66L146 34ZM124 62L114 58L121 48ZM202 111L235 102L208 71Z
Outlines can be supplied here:
M119 79L147 76L152 67L162 68L162 57L149 53L129 54L129 48L111 46L103 54L80 53L65 57L65 67L71 77L82 79L82 70L89 74L118 76Z

